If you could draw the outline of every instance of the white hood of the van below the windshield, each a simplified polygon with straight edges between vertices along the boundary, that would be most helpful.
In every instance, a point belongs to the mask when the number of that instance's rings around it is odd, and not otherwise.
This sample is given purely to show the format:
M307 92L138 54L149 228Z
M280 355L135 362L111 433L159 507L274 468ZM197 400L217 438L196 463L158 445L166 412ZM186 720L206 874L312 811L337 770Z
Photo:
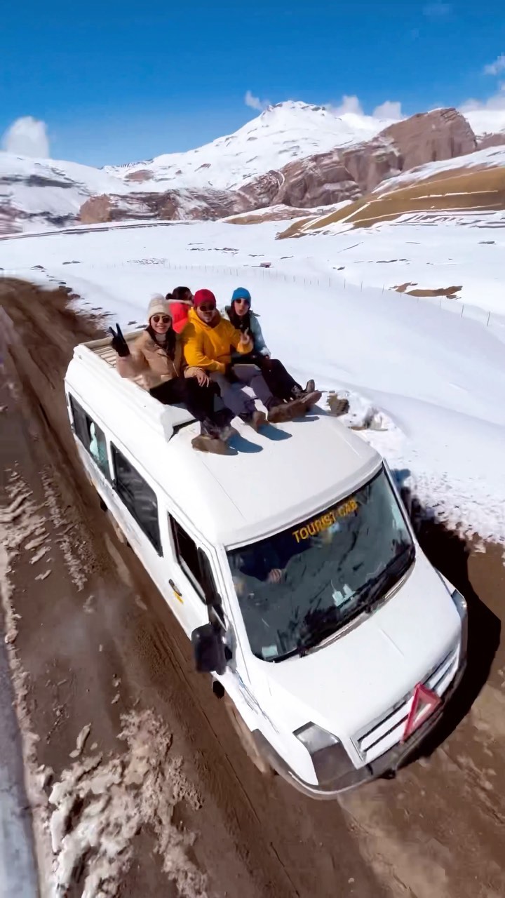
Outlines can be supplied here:
M258 663L291 732L312 722L352 736L426 679L460 637L456 606L418 548L398 592L357 627L304 657Z

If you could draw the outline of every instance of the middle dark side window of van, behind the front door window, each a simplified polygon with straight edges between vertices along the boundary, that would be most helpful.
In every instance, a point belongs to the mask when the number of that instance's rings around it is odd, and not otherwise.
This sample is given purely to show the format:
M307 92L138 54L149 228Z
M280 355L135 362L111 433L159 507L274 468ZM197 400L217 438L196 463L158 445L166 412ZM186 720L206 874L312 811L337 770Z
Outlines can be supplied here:
M155 490L111 443L112 460L115 471L115 488L120 499L127 506L130 515L144 531L147 539L155 547L158 555L162 555L160 524L158 521L158 503Z

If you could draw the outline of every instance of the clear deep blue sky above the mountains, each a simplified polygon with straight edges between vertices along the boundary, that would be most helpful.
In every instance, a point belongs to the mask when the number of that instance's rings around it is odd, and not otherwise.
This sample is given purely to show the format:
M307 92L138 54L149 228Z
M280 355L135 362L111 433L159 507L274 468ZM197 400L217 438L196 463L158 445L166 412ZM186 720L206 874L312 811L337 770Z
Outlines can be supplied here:
M499 95L505 3L416 0L25 0L4 4L0 135L46 122L50 153L92 165L186 150L240 128L260 101L403 114ZM502 71L500 72L500 70ZM504 94L505 96L505 94ZM504 104L505 105L505 104Z

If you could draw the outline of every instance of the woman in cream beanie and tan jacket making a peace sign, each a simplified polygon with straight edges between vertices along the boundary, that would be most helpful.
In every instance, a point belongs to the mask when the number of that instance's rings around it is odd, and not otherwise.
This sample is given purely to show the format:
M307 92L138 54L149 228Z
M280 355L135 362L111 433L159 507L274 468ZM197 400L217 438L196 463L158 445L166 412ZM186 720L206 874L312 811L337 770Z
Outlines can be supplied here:
M217 386L199 367L188 367L182 352L182 338L172 327L169 305L156 295L147 310L148 324L134 341L131 351L120 327L112 329L112 348L118 353L116 368L121 377L142 376L146 389L164 405L182 402L200 422L200 436L192 445L201 452L226 452L226 440L235 431L229 427L227 409L215 411Z

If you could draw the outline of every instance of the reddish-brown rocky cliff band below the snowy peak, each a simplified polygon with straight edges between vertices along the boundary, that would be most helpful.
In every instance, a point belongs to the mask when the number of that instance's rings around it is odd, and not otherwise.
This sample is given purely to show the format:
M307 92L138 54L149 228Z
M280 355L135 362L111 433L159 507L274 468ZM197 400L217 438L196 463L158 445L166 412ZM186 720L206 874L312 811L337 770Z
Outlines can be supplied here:
M457 110L434 110L391 125L362 144L288 163L240 189L171 189L92 198L81 208L81 221L90 224L120 217L205 220L270 206L328 206L358 199L384 180L418 165L452 159L476 148L474 132ZM148 170L135 172L131 180L145 180L147 174Z

